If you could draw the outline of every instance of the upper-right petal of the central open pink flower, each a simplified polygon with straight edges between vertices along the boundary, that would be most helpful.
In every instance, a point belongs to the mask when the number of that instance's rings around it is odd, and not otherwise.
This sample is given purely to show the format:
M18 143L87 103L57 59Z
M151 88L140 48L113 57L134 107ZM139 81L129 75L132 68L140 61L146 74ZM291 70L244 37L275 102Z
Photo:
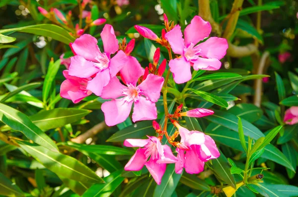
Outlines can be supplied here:
M147 78L138 86L150 101L157 102L163 85L163 77L149 74Z

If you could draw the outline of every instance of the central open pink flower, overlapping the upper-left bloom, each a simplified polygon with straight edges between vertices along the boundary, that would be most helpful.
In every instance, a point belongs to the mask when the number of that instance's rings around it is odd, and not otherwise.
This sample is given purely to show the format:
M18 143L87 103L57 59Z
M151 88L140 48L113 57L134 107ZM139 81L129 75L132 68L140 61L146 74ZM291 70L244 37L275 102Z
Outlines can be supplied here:
M107 86L103 88L101 98L113 99L101 105L105 122L108 126L114 126L127 119L134 103L133 122L154 120L157 118L155 103L160 97L160 90L164 79L160 76L149 74L147 78L137 86L140 76L144 74L136 58L129 57L128 65L121 71L121 78L127 86L122 85L117 77L111 78ZM117 99L118 97L122 97Z

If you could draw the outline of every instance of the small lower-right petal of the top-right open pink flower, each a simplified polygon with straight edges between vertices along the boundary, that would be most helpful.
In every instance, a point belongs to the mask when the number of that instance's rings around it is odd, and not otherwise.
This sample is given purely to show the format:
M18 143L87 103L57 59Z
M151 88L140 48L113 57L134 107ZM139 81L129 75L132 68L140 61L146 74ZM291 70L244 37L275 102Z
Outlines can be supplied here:
M198 58L194 63L195 70L218 70L221 68L222 63L216 58L213 59L205 59L205 58Z

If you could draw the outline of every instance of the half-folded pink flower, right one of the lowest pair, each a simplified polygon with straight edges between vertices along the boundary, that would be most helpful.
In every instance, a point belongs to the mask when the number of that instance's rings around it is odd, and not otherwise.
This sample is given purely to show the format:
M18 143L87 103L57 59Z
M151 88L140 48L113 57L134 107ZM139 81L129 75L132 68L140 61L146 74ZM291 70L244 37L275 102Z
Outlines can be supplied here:
M220 156L215 141L200 131L189 131L177 122L173 123L181 136L181 148L176 148L178 161L175 172L180 174L185 168L189 174L198 174L204 170L204 164Z

